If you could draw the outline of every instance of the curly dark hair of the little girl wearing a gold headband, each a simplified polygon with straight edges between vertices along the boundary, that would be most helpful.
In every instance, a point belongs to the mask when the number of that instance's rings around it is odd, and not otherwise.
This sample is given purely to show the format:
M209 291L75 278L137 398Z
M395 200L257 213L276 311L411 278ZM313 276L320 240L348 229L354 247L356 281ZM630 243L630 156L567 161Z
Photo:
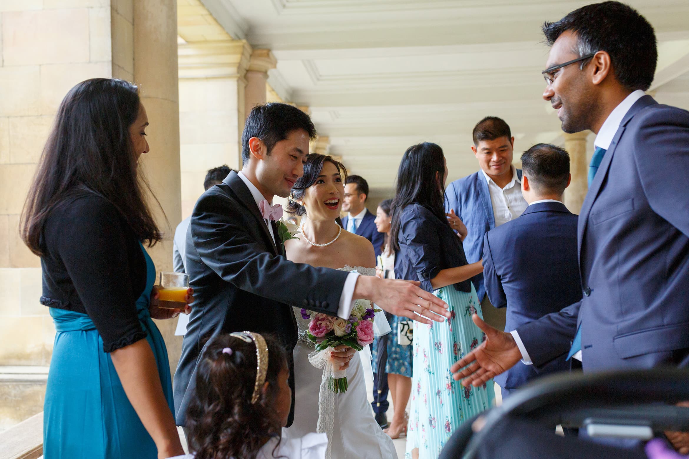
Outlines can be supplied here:
M189 448L196 459L255 459L267 438L280 438L282 422L274 407L280 391L278 374L287 368L287 354L278 339L263 337L268 347L268 388L253 405L254 343L223 334L206 345L187 411ZM223 353L224 348L232 349L232 354Z

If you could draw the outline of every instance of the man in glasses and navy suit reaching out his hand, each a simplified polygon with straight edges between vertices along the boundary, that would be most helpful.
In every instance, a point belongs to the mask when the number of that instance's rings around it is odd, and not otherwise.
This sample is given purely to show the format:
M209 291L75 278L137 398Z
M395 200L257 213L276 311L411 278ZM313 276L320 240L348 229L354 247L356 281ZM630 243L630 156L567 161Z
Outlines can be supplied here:
M617 1L579 8L543 32L544 99L563 131L597 134L577 228L583 298L511 332L475 316L487 339L453 365L455 378L479 385L521 359L542 367L562 355L585 372L686 366L689 112L644 94L655 32ZM689 451L688 434L668 438ZM550 436L529 440L555 447Z

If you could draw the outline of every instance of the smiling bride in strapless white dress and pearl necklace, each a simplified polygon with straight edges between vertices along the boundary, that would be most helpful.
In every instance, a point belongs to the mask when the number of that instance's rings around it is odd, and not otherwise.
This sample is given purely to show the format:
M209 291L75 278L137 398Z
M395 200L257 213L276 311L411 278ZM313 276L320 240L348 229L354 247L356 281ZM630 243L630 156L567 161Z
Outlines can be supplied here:
M340 228L336 218L345 194L342 164L329 156L307 156L304 175L292 188L289 210L303 215L299 239L285 243L287 258L297 263L375 275L376 256L368 239ZM352 268L353 267L353 268ZM306 337L309 321L295 308L299 342L294 348L294 423L282 429L283 438L299 438L318 427L318 399L323 370L309 362L315 344ZM365 358L365 357L364 357ZM334 407L325 407L333 416L329 449L333 459L394 459L395 447L373 418L367 400L360 352L353 354L347 368L349 388L335 394Z

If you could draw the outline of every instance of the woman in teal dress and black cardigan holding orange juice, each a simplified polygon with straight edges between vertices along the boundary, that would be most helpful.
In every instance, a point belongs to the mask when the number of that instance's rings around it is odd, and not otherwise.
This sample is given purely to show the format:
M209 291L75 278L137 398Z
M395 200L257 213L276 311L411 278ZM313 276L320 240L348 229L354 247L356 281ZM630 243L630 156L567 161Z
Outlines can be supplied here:
M136 85L94 78L74 86L26 200L22 237L41 257L41 304L56 329L46 459L183 453L167 350L151 320L181 311L158 308L156 268L142 244L162 237L137 169L147 125Z

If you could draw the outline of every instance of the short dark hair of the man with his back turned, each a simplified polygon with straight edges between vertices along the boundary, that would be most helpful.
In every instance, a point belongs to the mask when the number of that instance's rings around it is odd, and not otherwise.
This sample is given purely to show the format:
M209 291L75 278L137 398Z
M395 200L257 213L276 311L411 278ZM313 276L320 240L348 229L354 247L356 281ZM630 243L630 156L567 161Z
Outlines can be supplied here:
M524 151L522 171L535 191L562 195L569 180L569 154L557 145L536 144Z

